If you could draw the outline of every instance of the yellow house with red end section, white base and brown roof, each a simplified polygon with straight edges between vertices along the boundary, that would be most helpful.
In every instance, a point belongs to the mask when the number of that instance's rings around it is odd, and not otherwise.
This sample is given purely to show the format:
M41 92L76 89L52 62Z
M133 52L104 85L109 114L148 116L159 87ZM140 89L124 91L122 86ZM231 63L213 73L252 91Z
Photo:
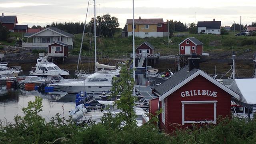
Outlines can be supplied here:
M128 36L132 36L132 19L126 20ZM140 38L164 37L169 32L162 18L138 18L134 19L134 33Z

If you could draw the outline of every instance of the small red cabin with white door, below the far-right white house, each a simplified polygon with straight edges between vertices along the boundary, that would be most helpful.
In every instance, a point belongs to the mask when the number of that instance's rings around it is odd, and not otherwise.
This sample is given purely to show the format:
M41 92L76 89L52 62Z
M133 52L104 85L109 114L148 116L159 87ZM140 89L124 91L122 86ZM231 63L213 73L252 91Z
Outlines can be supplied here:
M186 38L179 44L180 55L186 54L191 55L192 53L196 53L198 56L203 53L203 43L200 42L196 38Z

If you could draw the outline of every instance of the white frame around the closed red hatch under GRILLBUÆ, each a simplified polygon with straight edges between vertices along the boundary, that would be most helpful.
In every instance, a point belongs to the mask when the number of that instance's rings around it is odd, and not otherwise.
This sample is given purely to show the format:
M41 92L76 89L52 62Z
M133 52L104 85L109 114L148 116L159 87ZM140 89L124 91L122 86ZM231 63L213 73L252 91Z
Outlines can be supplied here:
M185 121L185 104L214 104L214 120L207 120L209 123L216 124L217 115L217 100L205 100L205 101L181 101L182 102L182 125L184 124L193 124L193 123L205 123L204 120L197 120L197 121Z

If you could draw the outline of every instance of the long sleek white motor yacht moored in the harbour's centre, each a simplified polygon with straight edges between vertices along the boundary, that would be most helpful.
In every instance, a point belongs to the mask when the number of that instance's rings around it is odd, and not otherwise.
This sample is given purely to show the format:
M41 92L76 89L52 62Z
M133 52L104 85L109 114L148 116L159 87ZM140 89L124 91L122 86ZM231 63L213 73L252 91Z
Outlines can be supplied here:
M102 94L102 92L108 92L112 88L112 79L115 76L119 76L120 70L120 68L116 70L100 70L91 74L85 80L49 84L49 86L54 86L55 90L63 90L68 93Z

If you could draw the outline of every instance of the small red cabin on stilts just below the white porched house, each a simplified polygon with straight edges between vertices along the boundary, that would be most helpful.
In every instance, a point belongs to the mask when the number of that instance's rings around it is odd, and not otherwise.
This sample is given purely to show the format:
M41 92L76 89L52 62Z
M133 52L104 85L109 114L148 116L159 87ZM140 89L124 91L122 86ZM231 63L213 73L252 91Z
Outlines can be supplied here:
M62 42L55 42L48 45L48 56L52 57L67 57L68 45Z

